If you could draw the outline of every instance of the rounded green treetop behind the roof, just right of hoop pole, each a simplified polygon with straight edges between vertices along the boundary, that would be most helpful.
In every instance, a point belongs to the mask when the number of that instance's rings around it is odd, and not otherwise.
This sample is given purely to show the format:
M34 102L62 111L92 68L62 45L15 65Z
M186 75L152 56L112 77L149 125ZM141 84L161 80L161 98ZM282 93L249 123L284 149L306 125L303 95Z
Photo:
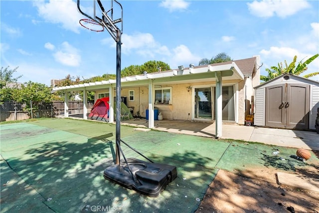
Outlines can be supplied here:
M170 67L167 63L162 61L147 61L142 65L131 65L125 67L121 71L121 77L141 75L144 71L148 73L158 72L158 71L170 70Z

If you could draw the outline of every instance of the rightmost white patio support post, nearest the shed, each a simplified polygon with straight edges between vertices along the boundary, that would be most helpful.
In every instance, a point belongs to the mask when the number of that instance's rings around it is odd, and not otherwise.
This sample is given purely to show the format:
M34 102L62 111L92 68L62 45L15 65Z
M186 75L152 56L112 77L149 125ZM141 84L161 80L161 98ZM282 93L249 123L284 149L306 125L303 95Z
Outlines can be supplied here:
M223 87L222 87L222 77L221 72L215 72L216 77L216 106L215 106L215 138L222 137L222 116L223 116Z

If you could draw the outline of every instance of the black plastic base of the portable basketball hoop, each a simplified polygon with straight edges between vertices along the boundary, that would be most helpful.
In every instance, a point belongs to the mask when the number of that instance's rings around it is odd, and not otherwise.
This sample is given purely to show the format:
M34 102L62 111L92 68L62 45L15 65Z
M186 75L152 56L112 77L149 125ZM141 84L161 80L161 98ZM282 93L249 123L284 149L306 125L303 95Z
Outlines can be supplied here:
M158 197L177 177L175 166L149 163L135 158L128 158L127 161L136 181L125 161L122 161L121 165L116 164L106 168L104 178L143 195Z

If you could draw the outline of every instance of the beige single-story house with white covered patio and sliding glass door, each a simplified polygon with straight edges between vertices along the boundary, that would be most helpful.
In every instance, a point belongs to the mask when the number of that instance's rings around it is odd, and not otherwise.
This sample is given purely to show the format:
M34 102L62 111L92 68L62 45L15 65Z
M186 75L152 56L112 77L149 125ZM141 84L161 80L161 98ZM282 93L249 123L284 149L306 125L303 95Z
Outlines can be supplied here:
M251 113L254 87L260 82L260 57L192 66L178 69L145 73L121 78L121 97L133 109L133 115L148 117L149 128L154 127L154 110L163 119L192 121L221 121L245 123ZM113 102L115 80L92 82L79 85L55 87L53 91L95 91L95 101L110 97L110 119L114 122ZM87 119L87 110L83 118ZM65 111L65 117L68 111ZM220 118L220 119L217 119ZM217 122L216 122L217 124Z

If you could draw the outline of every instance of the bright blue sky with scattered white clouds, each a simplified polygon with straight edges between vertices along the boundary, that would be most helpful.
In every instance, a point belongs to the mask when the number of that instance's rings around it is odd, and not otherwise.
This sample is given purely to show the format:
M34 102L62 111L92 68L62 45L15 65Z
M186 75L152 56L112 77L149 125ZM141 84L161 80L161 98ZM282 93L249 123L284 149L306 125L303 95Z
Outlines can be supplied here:
M319 53L318 0L119 0L123 6L121 69L160 60L172 69L227 53L260 55L265 68ZM93 0L81 0L92 13ZM102 1L110 7L110 1ZM118 7L115 7L118 11ZM1 66L19 82L50 84L116 72L116 43L105 30L79 24L75 0L0 0ZM115 16L118 12L114 13ZM114 16L114 19L116 17ZM319 71L319 58L305 74ZM303 74L302 74L303 75ZM319 81L319 76L313 77Z

